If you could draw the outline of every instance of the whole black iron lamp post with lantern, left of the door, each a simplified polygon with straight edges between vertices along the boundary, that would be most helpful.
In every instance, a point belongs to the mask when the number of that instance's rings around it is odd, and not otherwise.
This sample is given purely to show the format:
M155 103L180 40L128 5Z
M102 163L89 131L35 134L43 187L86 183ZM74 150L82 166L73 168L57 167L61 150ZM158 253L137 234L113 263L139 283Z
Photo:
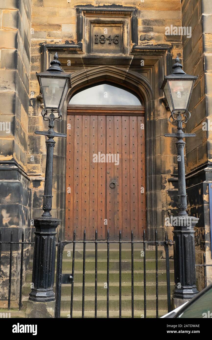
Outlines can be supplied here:
M54 267L55 267L55 235L56 227L61 220L51 216L52 209L52 172L54 137L66 137L66 134L54 131L54 121L62 120L61 108L71 87L70 74L61 69L58 54L54 55L47 71L36 73L41 88L44 109L42 116L49 121L48 131L35 131L36 134L45 135L46 140L46 172L44 185L44 199L42 217L34 218L35 246L33 257L32 283L33 288L29 300L34 302L52 302L55 300Z

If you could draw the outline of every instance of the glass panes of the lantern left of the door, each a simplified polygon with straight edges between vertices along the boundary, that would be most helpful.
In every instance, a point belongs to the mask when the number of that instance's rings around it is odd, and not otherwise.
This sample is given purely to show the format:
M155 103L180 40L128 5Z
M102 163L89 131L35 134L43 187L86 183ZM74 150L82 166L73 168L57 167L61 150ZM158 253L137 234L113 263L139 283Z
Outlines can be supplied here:
M58 108L60 105L66 78L40 77L46 108Z

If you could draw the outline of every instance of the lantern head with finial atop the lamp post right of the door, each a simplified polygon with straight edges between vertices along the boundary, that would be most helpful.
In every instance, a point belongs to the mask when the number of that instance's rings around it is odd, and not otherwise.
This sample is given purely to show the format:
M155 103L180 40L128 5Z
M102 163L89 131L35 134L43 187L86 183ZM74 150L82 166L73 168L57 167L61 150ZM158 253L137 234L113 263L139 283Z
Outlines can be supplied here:
M194 82L198 76L186 74L177 57L173 72L166 75L161 88L164 91L171 113L186 112L189 107Z

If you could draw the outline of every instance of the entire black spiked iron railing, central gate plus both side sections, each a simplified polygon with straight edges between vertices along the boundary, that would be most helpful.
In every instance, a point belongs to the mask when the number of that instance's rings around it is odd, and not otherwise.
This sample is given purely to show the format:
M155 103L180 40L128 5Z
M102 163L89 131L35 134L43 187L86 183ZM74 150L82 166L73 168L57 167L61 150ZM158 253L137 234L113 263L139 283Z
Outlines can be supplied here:
M131 240L125 241L121 238L121 232L119 232L119 240L110 240L110 234L109 231L107 233L107 240L98 240L97 231L95 233L95 240L86 240L86 233L84 231L84 238L83 240L76 240L76 232L74 232L74 238L71 241L61 241L60 240L60 234L58 238L58 242L56 243L57 248L57 263L56 263L56 287L55 287L55 318L60 318L60 309L61 309L61 288L62 284L71 284L70 289L70 318L73 317L73 302L74 302L74 275L75 275L75 254L76 254L76 245L77 244L83 244L83 256L82 256L82 318L85 316L85 277L86 277L86 245L93 243L95 245L95 311L94 316L97 318L97 310L98 310L98 300L97 300L97 283L98 283L98 246L100 244L106 244L106 250L107 250L107 318L109 318L109 302L110 302L110 245L111 244L117 244L117 249L119 252L118 256L118 280L119 280L119 318L122 317L122 277L121 273L123 270L123 261L122 261L122 254L123 254L123 247L125 244L129 244L131 248L131 317L134 317L134 246L137 244L143 245L143 258L141 259L141 262L143 262L143 284L144 284L144 318L147 317L147 259L146 259L146 251L147 246L153 246L152 248L155 249L155 287L156 287L156 317L158 318L158 312L159 312L159 270L158 270L158 247L162 247L161 249L164 249L165 251L165 266L166 266L166 294L167 294L167 310L171 310L171 292L170 292L170 261L169 261L169 246L173 245L172 241L168 240L167 233L165 235L165 241L158 241L157 237L157 230L155 232L155 240L154 241L147 241L145 236L145 231L143 234L143 240L134 240L133 239L133 232L131 233ZM24 259L24 250L25 245L34 245L34 242L24 242L24 232L22 232L22 237L20 242L14 242L13 241L13 232L11 232L11 240L6 242L2 241L2 231L0 231L0 288L2 284L2 278L5 279L5 273L4 276L2 275L2 247L4 246L3 253L6 254L6 257L8 257L9 261L7 260L7 263L9 263L9 277L6 277L8 280L8 297L3 300L7 299L7 309L11 308L11 285L12 285L12 265L13 265L13 254L14 254L14 246L19 245L19 247L15 250L19 253L20 256L20 271L19 271L19 277L20 277L20 284L19 284L19 297L18 297L18 306L19 310L21 310L22 307L22 284L23 284L23 259ZM72 269L70 274L64 274L62 272L62 263L63 263L63 251L66 245L71 245L72 249ZM164 247L164 248L163 248ZM5 256L4 256L5 260ZM206 267L212 266L206 264L206 256L203 254L203 264L196 265L196 267L203 267L204 271L204 283L205 287L207 286L207 276L206 276ZM16 279L18 277L16 276ZM5 283L4 283L5 287Z

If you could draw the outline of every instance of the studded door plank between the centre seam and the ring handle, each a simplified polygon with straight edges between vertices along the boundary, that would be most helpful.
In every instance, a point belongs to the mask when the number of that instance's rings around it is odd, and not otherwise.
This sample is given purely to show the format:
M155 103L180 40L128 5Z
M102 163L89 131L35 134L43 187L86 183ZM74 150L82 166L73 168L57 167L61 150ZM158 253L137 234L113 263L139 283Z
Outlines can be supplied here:
M114 116L107 116L106 125L106 153L114 154ZM114 188L110 187L110 183L114 180L114 163L106 163L107 169L107 229L110 231L111 237L114 237Z

